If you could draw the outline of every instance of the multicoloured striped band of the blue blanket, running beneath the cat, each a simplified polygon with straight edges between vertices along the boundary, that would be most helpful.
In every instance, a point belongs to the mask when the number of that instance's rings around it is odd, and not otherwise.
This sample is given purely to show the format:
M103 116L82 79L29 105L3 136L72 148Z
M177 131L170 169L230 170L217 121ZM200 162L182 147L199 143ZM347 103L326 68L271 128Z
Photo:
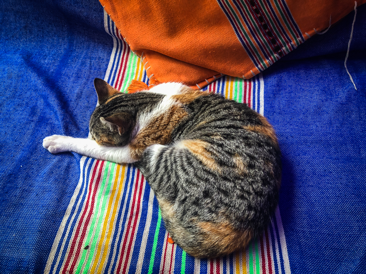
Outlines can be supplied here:
M119 90L132 79L148 83L143 61L106 13L104 24L114 43L105 80ZM223 76L204 90L264 114L264 88L258 74L251 80ZM153 191L134 165L84 156L44 273L290 273L278 208L262 237L224 258L195 259L168 237Z

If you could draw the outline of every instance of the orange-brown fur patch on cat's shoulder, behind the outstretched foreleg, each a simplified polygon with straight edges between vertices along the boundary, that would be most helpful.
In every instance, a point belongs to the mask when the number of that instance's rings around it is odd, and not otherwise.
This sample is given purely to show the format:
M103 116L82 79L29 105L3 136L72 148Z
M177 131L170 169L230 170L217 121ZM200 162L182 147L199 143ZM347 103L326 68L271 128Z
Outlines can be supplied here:
M142 129L131 142L137 156L149 146L154 144L165 145L171 141L171 133L179 121L188 113L180 106L173 106L168 111L155 117Z

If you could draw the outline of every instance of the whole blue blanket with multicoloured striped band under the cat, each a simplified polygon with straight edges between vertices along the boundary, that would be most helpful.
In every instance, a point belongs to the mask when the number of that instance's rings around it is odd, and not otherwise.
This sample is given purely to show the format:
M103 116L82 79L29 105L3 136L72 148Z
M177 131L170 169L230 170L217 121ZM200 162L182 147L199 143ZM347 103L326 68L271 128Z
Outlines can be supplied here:
M360 273L366 270L366 7L251 79L203 88L247 103L283 153L279 207L246 250L195 259L168 243L134 165L51 155L52 134L86 137L93 79L149 84L97 1L0 3L0 273Z

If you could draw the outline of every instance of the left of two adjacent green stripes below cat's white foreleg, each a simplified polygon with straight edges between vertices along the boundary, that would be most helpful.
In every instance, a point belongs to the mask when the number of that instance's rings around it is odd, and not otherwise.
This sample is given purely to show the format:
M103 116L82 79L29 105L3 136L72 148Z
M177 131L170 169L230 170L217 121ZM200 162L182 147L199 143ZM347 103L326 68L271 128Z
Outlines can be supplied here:
M94 208L95 213L93 213L93 220L90 223L89 230L88 230L88 233L87 233L87 237L86 237L86 240L84 241L85 245L89 246L89 248L87 250L85 250L84 247L82 247L82 253L81 253L79 265L78 265L78 268L76 269L75 273L80 273L81 267L82 267L82 265L85 261L86 255L88 254L88 256L89 256L89 254L91 252L94 252L95 247L91 246L90 239L91 239L91 236L93 235L94 225L95 225L96 218L97 218L97 215L98 215L96 213L96 210L99 209L100 197L102 195L104 185L105 185L105 181L107 180L107 176L108 176L108 168L109 168L110 163L108 161L106 161L105 163L106 164L105 164L105 170L104 170L104 174L103 174L102 183L101 183L100 188L99 188L98 193L97 193L98 198L97 198L97 204ZM90 252L90 253L88 253L88 252Z

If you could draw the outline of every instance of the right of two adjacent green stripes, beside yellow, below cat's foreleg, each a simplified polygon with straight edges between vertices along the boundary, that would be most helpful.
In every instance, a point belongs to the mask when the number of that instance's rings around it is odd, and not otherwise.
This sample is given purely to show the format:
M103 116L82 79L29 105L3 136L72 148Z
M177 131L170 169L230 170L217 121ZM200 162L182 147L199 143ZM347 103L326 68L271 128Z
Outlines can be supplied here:
M107 188L105 190L104 196L103 196L103 201L102 201L102 206L101 206L101 210L100 210L100 215L99 215L98 223L97 223L97 226L96 226L96 229L95 229L96 230L96 233L94 235L93 242L90 245L90 253L89 253L89 256L88 256L88 260L86 262L86 265L84 267L84 271L83 271L84 274L87 273L88 270L89 270L90 263L93 260L95 248L97 247L97 244L98 244L99 234L102 232L102 229L101 228L102 228L103 217L105 215L104 214L105 213L105 210L107 209L105 205L106 205L107 200L108 200L109 191L111 190L112 180L113 180L113 174L115 173L115 165L116 165L115 163L112 163L111 164L111 167L109 169L110 170L110 173L109 173L110 175L109 175L109 179L108 179L108 184L107 184ZM103 188L101 188L101 190L103 190ZM98 197L98 199L100 199L100 197ZM95 214L97 215L98 213L95 212ZM79 265L80 265L80 263L79 263Z

